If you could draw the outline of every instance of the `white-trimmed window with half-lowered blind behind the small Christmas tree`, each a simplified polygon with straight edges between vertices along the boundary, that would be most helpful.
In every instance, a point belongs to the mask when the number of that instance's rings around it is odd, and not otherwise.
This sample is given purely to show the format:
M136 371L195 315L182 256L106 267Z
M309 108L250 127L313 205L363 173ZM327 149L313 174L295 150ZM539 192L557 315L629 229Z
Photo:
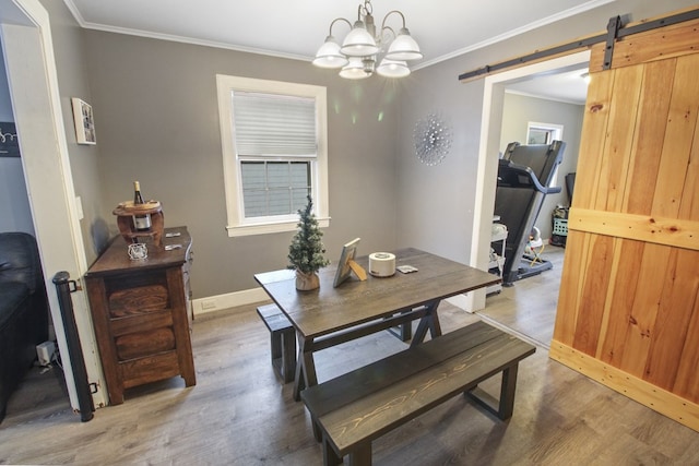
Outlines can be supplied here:
M313 199L328 208L325 88L217 75L228 236L292 231Z

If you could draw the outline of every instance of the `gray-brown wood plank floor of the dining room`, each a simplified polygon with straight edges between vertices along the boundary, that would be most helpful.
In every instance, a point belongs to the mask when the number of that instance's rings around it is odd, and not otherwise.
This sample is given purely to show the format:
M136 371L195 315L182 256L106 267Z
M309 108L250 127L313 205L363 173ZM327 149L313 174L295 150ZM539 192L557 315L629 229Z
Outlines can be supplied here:
M524 282L489 302L507 302L530 287L520 285ZM506 308L498 304L498 312ZM440 318L449 332L481 315L442 303ZM525 330L522 324L518 332ZM532 337L540 338L546 336ZM274 375L269 333L254 306L197 319L192 344L196 386L186 389L174 378L131 389L122 405L98 409L88 422L72 413L58 369L33 370L0 423L0 463L322 464L304 405L293 401L292 384L282 385ZM384 332L321 351L319 379L402 348ZM496 394L498 378L482 389ZM699 433L548 359L540 345L520 365L508 422L458 396L376 441L374 459L419 466L690 465L699 464Z

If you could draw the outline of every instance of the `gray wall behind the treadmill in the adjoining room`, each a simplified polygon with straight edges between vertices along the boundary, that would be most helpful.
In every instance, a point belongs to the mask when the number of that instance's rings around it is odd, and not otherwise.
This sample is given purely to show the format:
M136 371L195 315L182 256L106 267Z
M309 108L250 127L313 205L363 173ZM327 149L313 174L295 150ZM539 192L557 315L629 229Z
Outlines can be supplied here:
M545 198L535 224L544 239L550 238L552 212L556 205L570 205L565 187L565 176L576 171L578 165L584 105L505 94L500 151L503 152L510 142L526 144L526 123L530 121L561 124L564 127L562 140L566 142L566 151L564 159L558 167L557 176L557 186L561 187L562 190L558 194L548 194Z

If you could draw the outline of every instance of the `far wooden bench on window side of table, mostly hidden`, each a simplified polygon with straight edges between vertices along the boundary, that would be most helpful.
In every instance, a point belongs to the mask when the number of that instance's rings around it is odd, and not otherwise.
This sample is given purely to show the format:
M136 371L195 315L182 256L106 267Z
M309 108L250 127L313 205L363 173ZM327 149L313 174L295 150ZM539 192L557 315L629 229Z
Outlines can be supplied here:
M296 372L296 331L274 303L258 307L258 314L270 331L272 367L284 383L293 382Z

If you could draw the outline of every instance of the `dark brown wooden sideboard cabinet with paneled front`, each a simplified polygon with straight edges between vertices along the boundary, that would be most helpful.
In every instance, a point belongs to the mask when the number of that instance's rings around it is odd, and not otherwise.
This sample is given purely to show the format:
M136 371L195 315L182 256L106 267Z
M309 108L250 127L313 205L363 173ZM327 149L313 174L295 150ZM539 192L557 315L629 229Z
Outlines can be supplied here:
M179 247L173 248L173 246ZM85 274L93 324L109 402L123 403L132 386L181 375L197 383L191 331L186 227L166 228L163 246L147 244L147 258L131 260L116 237Z

